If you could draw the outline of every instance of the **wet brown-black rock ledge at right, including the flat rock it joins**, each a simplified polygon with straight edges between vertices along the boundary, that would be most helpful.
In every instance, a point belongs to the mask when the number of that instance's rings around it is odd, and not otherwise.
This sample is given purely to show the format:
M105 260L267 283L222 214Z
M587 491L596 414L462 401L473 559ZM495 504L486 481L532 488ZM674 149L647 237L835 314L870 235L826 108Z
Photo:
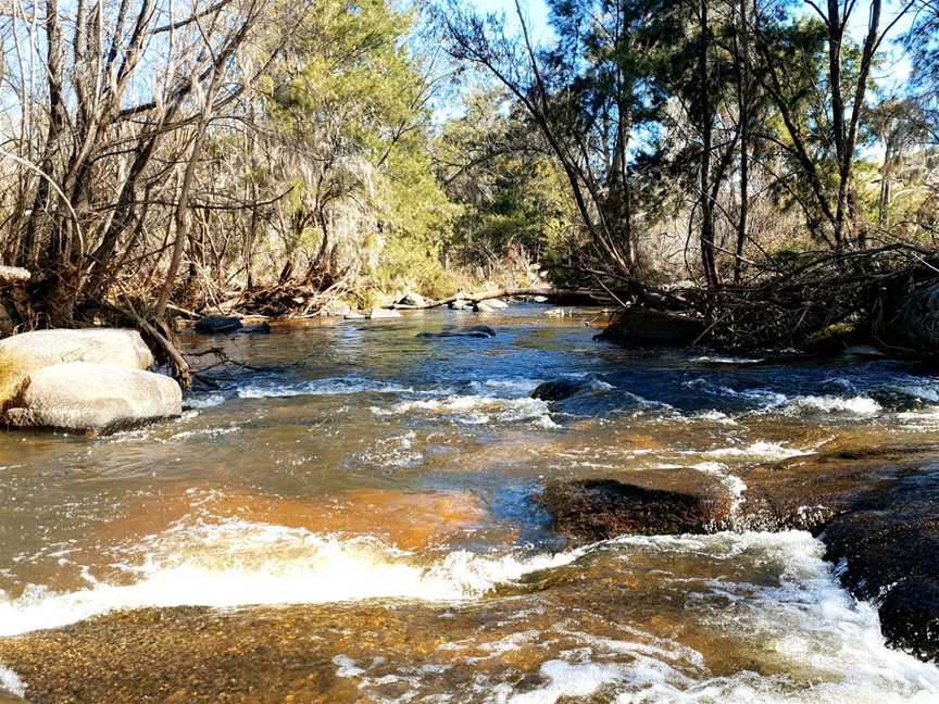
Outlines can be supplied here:
M536 501L575 543L728 527L809 530L842 584L879 608L888 644L939 662L937 455L937 445L897 447L761 465L740 472L748 488L738 502L700 475L660 489L663 478L648 473L552 481Z

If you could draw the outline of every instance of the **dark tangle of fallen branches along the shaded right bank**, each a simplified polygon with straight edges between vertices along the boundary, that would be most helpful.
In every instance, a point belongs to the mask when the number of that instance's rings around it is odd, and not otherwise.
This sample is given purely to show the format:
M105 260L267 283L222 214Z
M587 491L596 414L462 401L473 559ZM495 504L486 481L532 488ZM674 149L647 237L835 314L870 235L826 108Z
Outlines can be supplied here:
M656 329L684 332L680 339L666 336L666 343L726 350L805 350L831 340L832 345L876 343L916 356L939 352L935 252L898 243L805 259L764 268L739 286L623 293L634 313L615 316L605 337L653 343L646 332L654 323Z

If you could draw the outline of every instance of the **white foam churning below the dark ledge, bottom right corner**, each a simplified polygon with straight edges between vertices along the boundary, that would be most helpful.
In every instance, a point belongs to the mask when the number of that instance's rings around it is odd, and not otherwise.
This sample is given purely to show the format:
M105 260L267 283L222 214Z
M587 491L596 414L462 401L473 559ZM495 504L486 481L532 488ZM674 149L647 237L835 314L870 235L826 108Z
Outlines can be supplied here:
M652 659L637 657L619 665L618 677L604 671L598 678L601 686L614 682L617 703L939 701L939 669L887 648L876 609L856 603L840 588L831 565L824 561L824 545L807 532L628 537L612 544L622 545L627 554L636 549L697 553L717 561L749 556L771 565L779 575L777 582L715 579L710 594L697 595L700 609L693 593L686 609L731 637L739 633L760 643L763 652L778 658L777 666L806 667L817 680L797 686L781 676L761 677L746 670L733 677L714 677L706 670L692 670L689 676L687 667L672 667L687 662L687 656L679 661L650 652ZM623 641L623 646L635 650L635 641ZM619 652L615 641L598 650Z

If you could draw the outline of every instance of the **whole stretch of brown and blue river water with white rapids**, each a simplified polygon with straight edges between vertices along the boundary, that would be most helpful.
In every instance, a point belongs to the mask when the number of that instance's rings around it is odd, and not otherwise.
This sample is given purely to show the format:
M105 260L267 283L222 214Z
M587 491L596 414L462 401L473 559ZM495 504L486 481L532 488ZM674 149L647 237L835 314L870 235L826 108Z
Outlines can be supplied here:
M68 668L111 689L68 701L939 701L806 532L571 546L531 500L653 475L739 500L756 464L936 441L939 378L629 351L543 311L190 338L252 368L174 422L2 436L0 690L33 694L20 639L76 625Z

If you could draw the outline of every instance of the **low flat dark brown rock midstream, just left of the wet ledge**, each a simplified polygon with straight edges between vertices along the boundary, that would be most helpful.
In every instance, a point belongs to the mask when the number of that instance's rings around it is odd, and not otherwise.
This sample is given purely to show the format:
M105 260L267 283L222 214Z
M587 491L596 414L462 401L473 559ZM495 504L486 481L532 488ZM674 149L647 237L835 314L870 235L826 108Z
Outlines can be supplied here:
M622 535L713 531L726 506L703 494L647 489L615 479L552 481L537 499L558 532L586 540Z

